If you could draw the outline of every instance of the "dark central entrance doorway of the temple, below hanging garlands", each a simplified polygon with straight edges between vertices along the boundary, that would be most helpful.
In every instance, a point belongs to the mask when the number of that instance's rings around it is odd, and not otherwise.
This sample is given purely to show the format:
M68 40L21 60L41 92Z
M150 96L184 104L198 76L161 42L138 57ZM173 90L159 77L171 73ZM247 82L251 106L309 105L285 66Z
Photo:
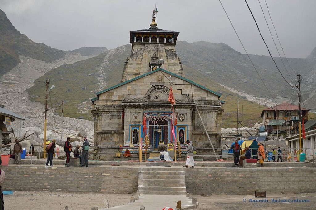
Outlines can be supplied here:
M167 120L158 122L149 121L149 140L154 149L158 147L159 141L163 140L165 144L168 143L169 126Z

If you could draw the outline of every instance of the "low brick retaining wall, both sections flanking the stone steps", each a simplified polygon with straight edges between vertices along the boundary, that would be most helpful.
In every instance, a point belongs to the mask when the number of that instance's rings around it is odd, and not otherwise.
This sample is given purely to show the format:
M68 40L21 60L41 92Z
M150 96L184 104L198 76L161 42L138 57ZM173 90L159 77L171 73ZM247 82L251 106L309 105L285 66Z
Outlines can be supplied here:
M154 167L154 166L152 166ZM174 167L174 166L172 166ZM167 167L170 168L170 167ZM316 168L176 168L185 171L188 193L198 195L316 192ZM2 166L3 190L136 193L138 167ZM164 168L158 170L163 171ZM176 176L176 175L175 175Z

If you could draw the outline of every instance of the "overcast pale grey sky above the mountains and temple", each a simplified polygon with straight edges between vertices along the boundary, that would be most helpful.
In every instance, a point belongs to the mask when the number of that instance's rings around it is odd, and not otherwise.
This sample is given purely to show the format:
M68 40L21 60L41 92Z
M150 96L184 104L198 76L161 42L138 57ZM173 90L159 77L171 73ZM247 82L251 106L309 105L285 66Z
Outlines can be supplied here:
M128 44L129 31L149 27L155 3L158 27L180 32L178 40L223 42L245 53L218 0L1 0L0 9L16 29L35 42L61 50L82 46L112 49ZM245 1L222 3L246 50L268 55ZM271 53L276 56L258 0L248 3ZM264 0L260 3L275 36ZM316 46L316 1L267 3L286 56L307 57ZM279 47L276 36L275 40Z

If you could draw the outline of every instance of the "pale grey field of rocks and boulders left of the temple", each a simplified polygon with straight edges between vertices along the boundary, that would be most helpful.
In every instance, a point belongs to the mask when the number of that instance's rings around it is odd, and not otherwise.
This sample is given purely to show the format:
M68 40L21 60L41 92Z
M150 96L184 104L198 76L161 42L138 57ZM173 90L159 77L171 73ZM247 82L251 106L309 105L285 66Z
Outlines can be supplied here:
M26 89L33 86L33 81L44 75L48 70L86 58L88 57L81 56L79 53L70 53L65 58L59 59L53 63L45 63L40 60L21 56L21 63L0 78L0 104L5 105L6 109L25 118L25 120L21 121L16 119L12 123L15 135L18 138L20 137L19 139L22 139L26 131L26 136L34 133L27 137L26 140L21 141L22 146L26 148L27 152L31 144L34 145L35 151L39 151L40 146L38 145L44 143L45 105L39 102L30 101ZM45 85L44 81L43 85ZM45 93L43 93L43 96L45 97ZM58 146L64 147L64 142L66 141L67 136L70 136L73 145L80 143L82 145L83 134L88 136L88 140L93 146L93 122L64 117L63 139L61 139L62 117L54 114L54 112L50 110L50 105L48 105L48 109L46 137L47 140L56 139L56 149ZM20 123L21 134L19 133ZM11 141L13 139L14 137L12 135ZM10 144L2 145L1 153L10 153L10 147L13 149L13 146ZM59 150L60 149L61 148L59 148ZM62 151L64 151L63 148Z

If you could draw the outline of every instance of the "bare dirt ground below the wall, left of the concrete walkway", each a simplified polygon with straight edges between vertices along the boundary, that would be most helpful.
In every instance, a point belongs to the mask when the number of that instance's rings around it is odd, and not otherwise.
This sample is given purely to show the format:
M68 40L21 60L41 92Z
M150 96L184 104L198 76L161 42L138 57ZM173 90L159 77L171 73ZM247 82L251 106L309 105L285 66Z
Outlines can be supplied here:
M131 194L92 194L92 193L56 193L21 192L4 195L4 209L23 210L90 210L92 207L104 207L103 199L110 207L130 202Z

